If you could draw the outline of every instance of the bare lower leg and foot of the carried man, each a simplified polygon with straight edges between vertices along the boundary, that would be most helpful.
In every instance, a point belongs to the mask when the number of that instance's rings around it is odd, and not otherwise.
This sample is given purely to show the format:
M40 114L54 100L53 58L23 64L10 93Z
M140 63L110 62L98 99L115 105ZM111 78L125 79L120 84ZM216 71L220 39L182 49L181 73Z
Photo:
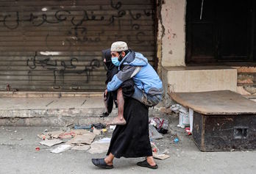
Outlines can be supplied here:
M118 116L114 117L112 121L107 123L107 125L125 125L127 122L124 120L124 96L123 90L120 87L117 93L117 103L118 103Z

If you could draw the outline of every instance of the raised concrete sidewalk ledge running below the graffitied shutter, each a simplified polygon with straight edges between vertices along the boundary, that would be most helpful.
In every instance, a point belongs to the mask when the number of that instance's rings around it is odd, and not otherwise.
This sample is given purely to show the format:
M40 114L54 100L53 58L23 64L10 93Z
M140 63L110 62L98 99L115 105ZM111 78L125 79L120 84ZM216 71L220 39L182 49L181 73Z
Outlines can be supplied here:
M149 113L156 114L156 109ZM102 97L0 98L0 126L67 126L103 123L117 115L100 118L105 112Z

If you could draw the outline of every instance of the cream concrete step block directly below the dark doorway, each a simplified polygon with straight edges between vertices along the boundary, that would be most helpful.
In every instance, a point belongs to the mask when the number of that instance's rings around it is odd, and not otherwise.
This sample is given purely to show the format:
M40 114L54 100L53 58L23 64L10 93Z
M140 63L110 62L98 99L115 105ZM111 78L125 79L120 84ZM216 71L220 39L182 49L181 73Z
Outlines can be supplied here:
M163 76L173 93L231 90L236 92L237 70L230 67L168 67Z

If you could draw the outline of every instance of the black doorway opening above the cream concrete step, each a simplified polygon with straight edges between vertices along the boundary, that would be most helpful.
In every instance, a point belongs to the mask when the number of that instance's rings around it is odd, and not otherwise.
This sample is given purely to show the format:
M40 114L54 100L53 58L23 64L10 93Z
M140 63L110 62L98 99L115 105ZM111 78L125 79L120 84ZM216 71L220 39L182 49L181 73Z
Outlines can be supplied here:
M187 0L187 65L256 65L253 0Z

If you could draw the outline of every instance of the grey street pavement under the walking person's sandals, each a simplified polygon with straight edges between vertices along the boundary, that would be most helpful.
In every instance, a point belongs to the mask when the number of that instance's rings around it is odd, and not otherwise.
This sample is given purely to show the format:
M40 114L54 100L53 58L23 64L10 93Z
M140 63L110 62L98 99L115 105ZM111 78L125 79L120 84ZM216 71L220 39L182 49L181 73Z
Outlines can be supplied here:
M139 159L115 159L112 170L95 167L90 160L102 158L102 154L86 151L50 153L49 147L39 145L40 134L45 129L60 130L58 127L0 127L0 173L256 173L256 151L201 152L185 131L177 128L178 118L168 116L170 131L156 142L160 151L171 157L156 160L159 168L150 170L138 167ZM106 136L109 136L109 132ZM175 134L179 142L174 143ZM40 147L40 151L35 151Z

